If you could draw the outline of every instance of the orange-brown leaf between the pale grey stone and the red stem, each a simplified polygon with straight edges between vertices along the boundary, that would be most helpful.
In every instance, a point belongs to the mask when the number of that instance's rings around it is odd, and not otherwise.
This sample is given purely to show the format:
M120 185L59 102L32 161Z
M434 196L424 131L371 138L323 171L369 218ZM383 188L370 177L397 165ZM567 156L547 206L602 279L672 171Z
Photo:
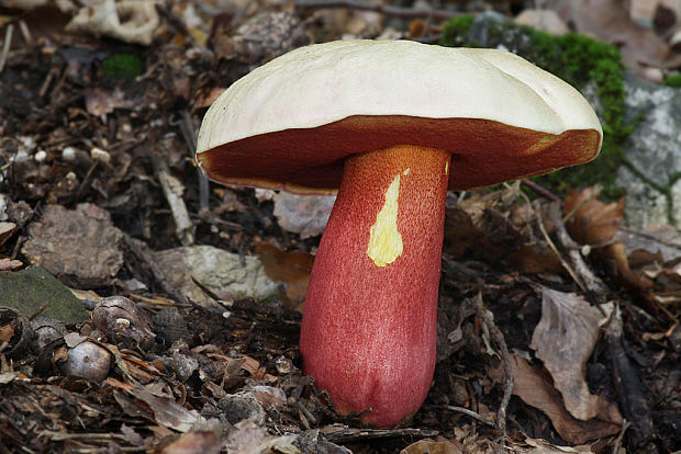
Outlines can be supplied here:
M284 252L266 242L257 246L256 253L267 276L284 284L286 303L302 311L314 257L303 251Z

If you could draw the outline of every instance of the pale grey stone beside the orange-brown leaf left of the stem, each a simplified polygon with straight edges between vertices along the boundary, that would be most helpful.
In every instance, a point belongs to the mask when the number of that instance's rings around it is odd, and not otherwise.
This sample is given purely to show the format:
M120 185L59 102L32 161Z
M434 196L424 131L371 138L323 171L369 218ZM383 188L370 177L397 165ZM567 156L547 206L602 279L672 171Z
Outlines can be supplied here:
M201 306L215 306L215 302L196 282L222 299L265 299L278 294L256 257L191 246L156 252L154 258L170 285Z

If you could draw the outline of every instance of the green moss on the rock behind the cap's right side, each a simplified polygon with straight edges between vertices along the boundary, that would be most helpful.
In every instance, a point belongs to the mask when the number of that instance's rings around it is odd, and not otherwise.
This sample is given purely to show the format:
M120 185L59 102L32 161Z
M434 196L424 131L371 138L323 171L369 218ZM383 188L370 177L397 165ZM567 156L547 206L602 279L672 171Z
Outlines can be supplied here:
M440 44L481 47L481 43L467 37L470 24L472 15L450 20L445 24ZM621 195L622 191L614 186L614 180L617 168L625 164L622 144L635 124L627 125L624 121L624 66L617 48L583 35L570 33L554 36L511 21L491 23L487 36L487 47L503 45L578 89L584 89L590 83L596 88L603 106L603 148L600 157L588 166L539 177L540 183L558 193L600 183L609 195Z

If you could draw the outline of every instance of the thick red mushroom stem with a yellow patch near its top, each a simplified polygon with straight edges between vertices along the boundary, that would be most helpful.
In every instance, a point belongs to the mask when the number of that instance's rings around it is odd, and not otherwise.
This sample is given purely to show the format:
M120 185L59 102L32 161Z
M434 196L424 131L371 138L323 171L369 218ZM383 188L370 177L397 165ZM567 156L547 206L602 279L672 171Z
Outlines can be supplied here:
M392 427L435 368L449 155L399 146L347 158L316 254L300 349L342 413Z

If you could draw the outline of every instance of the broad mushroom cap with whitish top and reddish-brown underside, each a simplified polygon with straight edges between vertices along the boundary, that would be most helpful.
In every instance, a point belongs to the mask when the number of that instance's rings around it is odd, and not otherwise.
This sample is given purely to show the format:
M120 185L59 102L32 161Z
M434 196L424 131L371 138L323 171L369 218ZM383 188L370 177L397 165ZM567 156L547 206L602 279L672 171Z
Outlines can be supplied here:
M197 160L223 183L333 193L346 156L415 145L449 151L449 189L464 190L590 161L602 136L579 91L509 52L336 41L234 82Z

